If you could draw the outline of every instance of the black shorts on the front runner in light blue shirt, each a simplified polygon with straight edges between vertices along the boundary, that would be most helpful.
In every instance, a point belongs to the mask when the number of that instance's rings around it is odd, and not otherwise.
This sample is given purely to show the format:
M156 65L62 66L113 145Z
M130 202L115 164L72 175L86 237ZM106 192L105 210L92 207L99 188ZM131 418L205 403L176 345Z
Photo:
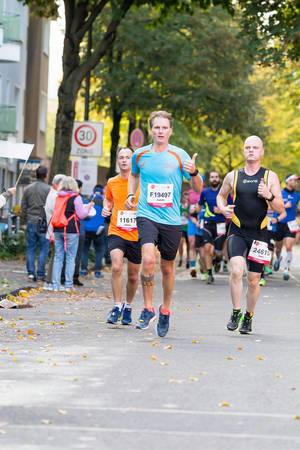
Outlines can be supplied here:
M173 261L182 237L181 225L157 223L146 217L137 217L139 242L157 246L162 259Z

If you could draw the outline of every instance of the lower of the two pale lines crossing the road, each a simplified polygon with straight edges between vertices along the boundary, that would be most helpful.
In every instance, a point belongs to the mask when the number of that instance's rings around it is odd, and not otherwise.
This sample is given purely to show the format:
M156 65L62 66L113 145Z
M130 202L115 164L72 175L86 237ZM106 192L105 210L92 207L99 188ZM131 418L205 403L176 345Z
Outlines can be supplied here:
M274 435L274 434L250 434L250 433L218 433L218 432L209 432L209 431L180 431L180 430L155 430L153 428L112 428L112 427L83 427L78 425L53 425L49 424L47 428L45 425L6 425L7 428L34 428L34 429L46 429L49 433L50 429L58 430L58 431L100 431L104 433L147 433L147 434L158 434L158 435L167 435L167 436L201 436L201 437L219 437L219 438L234 438L234 439L263 439L263 440L288 440L288 441L296 441L300 442L300 436L287 436L287 435Z

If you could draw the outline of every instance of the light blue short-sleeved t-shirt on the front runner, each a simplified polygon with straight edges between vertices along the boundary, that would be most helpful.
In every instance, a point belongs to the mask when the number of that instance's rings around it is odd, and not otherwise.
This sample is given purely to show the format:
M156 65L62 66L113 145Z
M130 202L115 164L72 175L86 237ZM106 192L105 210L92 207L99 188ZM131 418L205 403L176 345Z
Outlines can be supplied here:
M190 156L184 150L170 144L163 152L153 151L152 145L147 145L134 152L131 172L133 175L140 175L137 217L146 217L167 225L181 225L182 181L183 177L190 180L190 174L185 172L183 165L190 160ZM155 207L148 203L148 188L157 184L173 185L172 206ZM155 203L155 195L152 193L153 203Z

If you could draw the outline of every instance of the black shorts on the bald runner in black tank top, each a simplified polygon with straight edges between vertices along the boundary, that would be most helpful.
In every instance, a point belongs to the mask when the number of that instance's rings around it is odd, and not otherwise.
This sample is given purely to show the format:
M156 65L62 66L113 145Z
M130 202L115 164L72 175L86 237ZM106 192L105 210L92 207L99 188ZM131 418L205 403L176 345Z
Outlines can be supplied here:
M234 223L231 223L229 228L229 236L227 239L228 256L229 259L234 256L243 256L247 261L249 272L262 273L264 267L263 264L255 261L249 261L249 259L247 259L254 240L268 242L267 229L257 231L254 235L253 233L250 234L246 230L241 230Z

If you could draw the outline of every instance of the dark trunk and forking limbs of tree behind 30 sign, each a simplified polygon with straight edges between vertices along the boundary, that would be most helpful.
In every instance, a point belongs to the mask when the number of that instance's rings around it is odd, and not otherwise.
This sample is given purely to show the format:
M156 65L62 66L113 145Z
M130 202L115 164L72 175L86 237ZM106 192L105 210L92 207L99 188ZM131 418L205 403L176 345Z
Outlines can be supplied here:
M50 179L56 173L66 173L71 152L71 140L75 119L75 105L81 82L111 48L118 25L131 7L133 0L123 0L118 14L112 18L101 41L96 45L90 57L80 59L80 45L85 34L108 0L99 0L94 10L88 16L88 1L82 1L78 6L71 7L65 0L66 34L63 50L63 79L58 90L58 110L55 126L55 144L51 164Z

